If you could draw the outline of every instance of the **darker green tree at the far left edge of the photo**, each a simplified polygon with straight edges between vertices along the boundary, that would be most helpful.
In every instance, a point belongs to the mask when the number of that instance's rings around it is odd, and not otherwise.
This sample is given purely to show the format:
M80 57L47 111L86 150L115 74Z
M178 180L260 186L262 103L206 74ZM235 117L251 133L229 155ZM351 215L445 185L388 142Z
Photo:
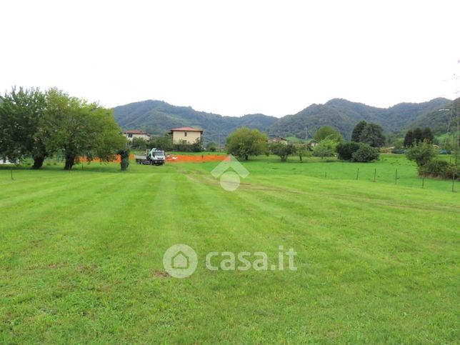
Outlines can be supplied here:
M11 160L32 156L39 169L47 155L39 132L46 101L39 89L11 89L0 96L0 154Z

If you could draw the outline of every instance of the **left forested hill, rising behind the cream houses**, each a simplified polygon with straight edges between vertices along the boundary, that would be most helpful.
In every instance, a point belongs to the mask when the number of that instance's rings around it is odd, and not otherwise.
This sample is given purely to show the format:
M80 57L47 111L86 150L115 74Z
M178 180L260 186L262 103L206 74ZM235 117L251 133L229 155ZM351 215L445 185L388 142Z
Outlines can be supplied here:
M278 121L276 117L264 114L221 116L152 100L116 106L114 116L123 129L144 129L151 134L164 134L175 127L199 127L204 129L206 142L218 142L219 139L223 142L231 131L241 126L268 131Z

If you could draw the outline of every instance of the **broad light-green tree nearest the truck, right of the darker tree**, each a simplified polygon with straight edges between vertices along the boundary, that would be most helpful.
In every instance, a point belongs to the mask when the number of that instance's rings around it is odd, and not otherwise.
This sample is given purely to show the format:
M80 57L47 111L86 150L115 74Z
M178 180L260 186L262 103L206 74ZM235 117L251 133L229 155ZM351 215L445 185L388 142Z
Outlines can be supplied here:
M126 139L111 110L57 89L47 92L46 103L42 126L44 142L49 151L64 151L64 169L72 169L79 156L86 156L90 161L96 157L109 161L125 148Z

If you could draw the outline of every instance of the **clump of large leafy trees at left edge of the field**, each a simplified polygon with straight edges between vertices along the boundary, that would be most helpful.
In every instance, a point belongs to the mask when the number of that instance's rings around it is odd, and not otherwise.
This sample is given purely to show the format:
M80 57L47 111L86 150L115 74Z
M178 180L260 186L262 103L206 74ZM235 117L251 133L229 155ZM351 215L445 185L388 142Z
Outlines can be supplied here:
M69 96L59 89L13 88L0 96L0 156L10 161L62 154L70 170L80 156L111 161L126 151L126 139L111 109Z

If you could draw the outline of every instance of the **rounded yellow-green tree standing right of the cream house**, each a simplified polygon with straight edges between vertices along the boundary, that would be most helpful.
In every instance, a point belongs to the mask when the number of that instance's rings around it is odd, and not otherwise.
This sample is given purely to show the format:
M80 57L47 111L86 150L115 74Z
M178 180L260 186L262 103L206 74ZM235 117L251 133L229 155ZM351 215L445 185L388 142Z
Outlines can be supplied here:
M266 141L266 134L262 134L259 129L241 127L227 137L226 150L227 153L247 161L249 156L266 152Z

